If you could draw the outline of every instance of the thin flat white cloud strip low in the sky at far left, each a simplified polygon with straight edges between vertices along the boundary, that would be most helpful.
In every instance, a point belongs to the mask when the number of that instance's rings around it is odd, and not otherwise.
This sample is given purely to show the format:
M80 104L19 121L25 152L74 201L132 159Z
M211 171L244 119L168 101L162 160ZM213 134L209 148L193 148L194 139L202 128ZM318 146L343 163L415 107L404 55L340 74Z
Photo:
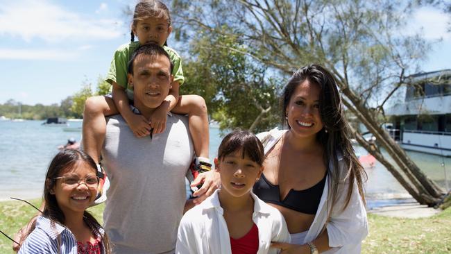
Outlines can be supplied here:
M72 60L77 54L58 49L0 49L0 59L8 60Z

